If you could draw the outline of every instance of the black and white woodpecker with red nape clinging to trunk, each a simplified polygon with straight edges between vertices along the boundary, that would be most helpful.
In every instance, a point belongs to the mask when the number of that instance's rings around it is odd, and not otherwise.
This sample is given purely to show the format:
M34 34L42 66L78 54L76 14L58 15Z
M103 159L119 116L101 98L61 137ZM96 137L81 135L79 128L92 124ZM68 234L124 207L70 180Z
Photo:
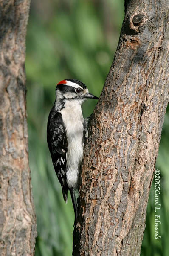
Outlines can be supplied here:
M70 191L75 221L79 167L83 157L85 125L81 105L85 99L99 99L76 79L65 79L56 85L56 99L48 117L47 142L65 202Z

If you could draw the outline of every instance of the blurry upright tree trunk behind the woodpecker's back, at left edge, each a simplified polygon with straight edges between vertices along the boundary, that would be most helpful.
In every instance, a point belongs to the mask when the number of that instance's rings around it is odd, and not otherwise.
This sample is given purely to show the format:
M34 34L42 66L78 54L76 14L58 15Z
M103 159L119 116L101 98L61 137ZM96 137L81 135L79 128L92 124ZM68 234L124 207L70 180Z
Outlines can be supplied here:
M25 35L29 0L0 0L0 255L34 255Z

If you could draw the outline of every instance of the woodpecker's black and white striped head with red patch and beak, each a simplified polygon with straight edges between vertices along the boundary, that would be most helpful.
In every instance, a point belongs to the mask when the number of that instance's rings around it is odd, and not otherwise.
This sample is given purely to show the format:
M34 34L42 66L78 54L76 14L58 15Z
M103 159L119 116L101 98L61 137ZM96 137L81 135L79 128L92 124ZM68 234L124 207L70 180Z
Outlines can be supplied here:
M56 86L56 104L64 104L66 101L78 101L82 104L85 99L99 99L89 93L86 85L76 79L65 79Z

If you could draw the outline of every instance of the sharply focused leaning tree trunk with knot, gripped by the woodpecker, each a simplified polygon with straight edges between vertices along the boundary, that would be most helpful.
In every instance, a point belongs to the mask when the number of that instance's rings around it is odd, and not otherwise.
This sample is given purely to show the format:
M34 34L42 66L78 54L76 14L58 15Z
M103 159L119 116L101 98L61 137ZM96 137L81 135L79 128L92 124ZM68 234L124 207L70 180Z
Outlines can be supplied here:
M169 92L169 1L126 0L90 122L73 255L140 255Z

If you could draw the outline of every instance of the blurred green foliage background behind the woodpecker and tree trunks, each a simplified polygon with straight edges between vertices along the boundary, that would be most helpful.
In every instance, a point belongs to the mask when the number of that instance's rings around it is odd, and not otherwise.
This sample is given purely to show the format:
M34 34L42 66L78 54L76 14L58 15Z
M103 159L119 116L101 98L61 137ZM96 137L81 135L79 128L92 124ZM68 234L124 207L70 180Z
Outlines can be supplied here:
M84 82L99 96L118 44L123 0L32 0L26 41L29 158L37 214L36 256L72 255L74 212L66 205L46 143L56 83ZM96 102L83 105L89 116ZM169 255L169 111L156 168L161 171L160 240L155 240L154 187L149 198L141 256Z

